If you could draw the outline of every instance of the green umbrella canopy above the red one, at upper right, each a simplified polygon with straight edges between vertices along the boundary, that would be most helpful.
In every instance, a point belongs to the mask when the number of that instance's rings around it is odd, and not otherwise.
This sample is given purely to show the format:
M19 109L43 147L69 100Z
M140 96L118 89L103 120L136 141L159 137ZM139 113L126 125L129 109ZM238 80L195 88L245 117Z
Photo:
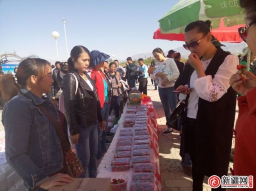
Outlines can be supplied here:
M239 0L180 0L159 20L162 33L180 33L189 23L210 20L218 28L220 19L225 26L245 23Z

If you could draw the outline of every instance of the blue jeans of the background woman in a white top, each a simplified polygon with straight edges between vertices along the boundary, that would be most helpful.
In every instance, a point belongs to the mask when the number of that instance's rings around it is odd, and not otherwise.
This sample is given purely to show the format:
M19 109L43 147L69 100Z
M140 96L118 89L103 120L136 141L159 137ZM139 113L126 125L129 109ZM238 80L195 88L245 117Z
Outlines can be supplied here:
M177 96L173 91L175 90L174 87L169 88L160 88L158 87L158 93L160 100L162 102L162 107L164 110L166 121L171 115L171 112L176 108L177 105ZM168 127L170 128L170 127Z

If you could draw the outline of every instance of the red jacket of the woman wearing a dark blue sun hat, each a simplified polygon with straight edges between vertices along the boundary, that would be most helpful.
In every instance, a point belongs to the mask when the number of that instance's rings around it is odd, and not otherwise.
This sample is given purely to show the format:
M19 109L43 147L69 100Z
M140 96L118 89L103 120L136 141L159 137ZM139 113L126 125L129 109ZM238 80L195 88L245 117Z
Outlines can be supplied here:
M103 108L104 101L105 101L105 87L104 87L103 78L105 80L106 78L101 70L100 70L100 73L97 70L92 70L91 78L95 81L95 88L96 88L99 100L101 102L101 108ZM95 80L95 77L96 77L96 80Z

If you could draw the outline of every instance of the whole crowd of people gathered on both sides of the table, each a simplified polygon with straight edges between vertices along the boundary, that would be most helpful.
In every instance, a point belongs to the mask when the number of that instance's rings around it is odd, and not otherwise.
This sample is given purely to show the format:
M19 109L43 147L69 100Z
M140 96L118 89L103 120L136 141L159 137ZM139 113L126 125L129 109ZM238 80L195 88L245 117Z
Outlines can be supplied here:
M239 116L232 173L256 178L256 4L240 0L240 6L246 11L246 26L239 34L248 45L240 60L222 50L210 32L210 21L199 20L185 28L183 46L191 52L186 64L180 61L179 52L170 50L165 56L161 48L155 48L150 66L142 58L137 65L128 57L123 68L118 60L109 63L109 55L78 45L65 63L51 66L47 60L28 57L14 70L14 76L0 73L8 163L30 189L44 191L73 181L65 174L61 141L42 107L61 123L65 139L74 144L84 169L81 178L95 178L96 163L107 151L106 136L114 135L109 132L108 116L115 111L118 121L127 91L136 88L136 81L138 90L147 95L150 77L166 120L178 100L186 101L180 155L184 172L192 176L193 191L202 191L205 176L228 173L237 94ZM249 71L237 71L237 65L247 63ZM185 87L188 89L179 96L173 92ZM172 132L167 127L163 135Z

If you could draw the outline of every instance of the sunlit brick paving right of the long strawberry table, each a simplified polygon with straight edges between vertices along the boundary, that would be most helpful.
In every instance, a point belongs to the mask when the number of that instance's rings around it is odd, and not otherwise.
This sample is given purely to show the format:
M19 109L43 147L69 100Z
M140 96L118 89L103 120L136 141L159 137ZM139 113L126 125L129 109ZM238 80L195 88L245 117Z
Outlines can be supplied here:
M151 85L151 81L148 80L148 96L151 97L157 123L160 130L167 128L165 125L165 115L162 108L162 103L158 95L158 91L154 90L155 86ZM238 108L236 110L236 118L238 115ZM159 133L159 155L160 155L160 168L162 176L163 191L191 191L192 190L192 179L183 173L180 165L181 157L180 152L180 137L178 132L174 132L169 135L162 135ZM233 139L234 146L234 139ZM229 166L233 166L230 162ZM211 191L211 188L207 184L208 178L205 178L203 189L204 191ZM228 191L228 190L227 190Z

